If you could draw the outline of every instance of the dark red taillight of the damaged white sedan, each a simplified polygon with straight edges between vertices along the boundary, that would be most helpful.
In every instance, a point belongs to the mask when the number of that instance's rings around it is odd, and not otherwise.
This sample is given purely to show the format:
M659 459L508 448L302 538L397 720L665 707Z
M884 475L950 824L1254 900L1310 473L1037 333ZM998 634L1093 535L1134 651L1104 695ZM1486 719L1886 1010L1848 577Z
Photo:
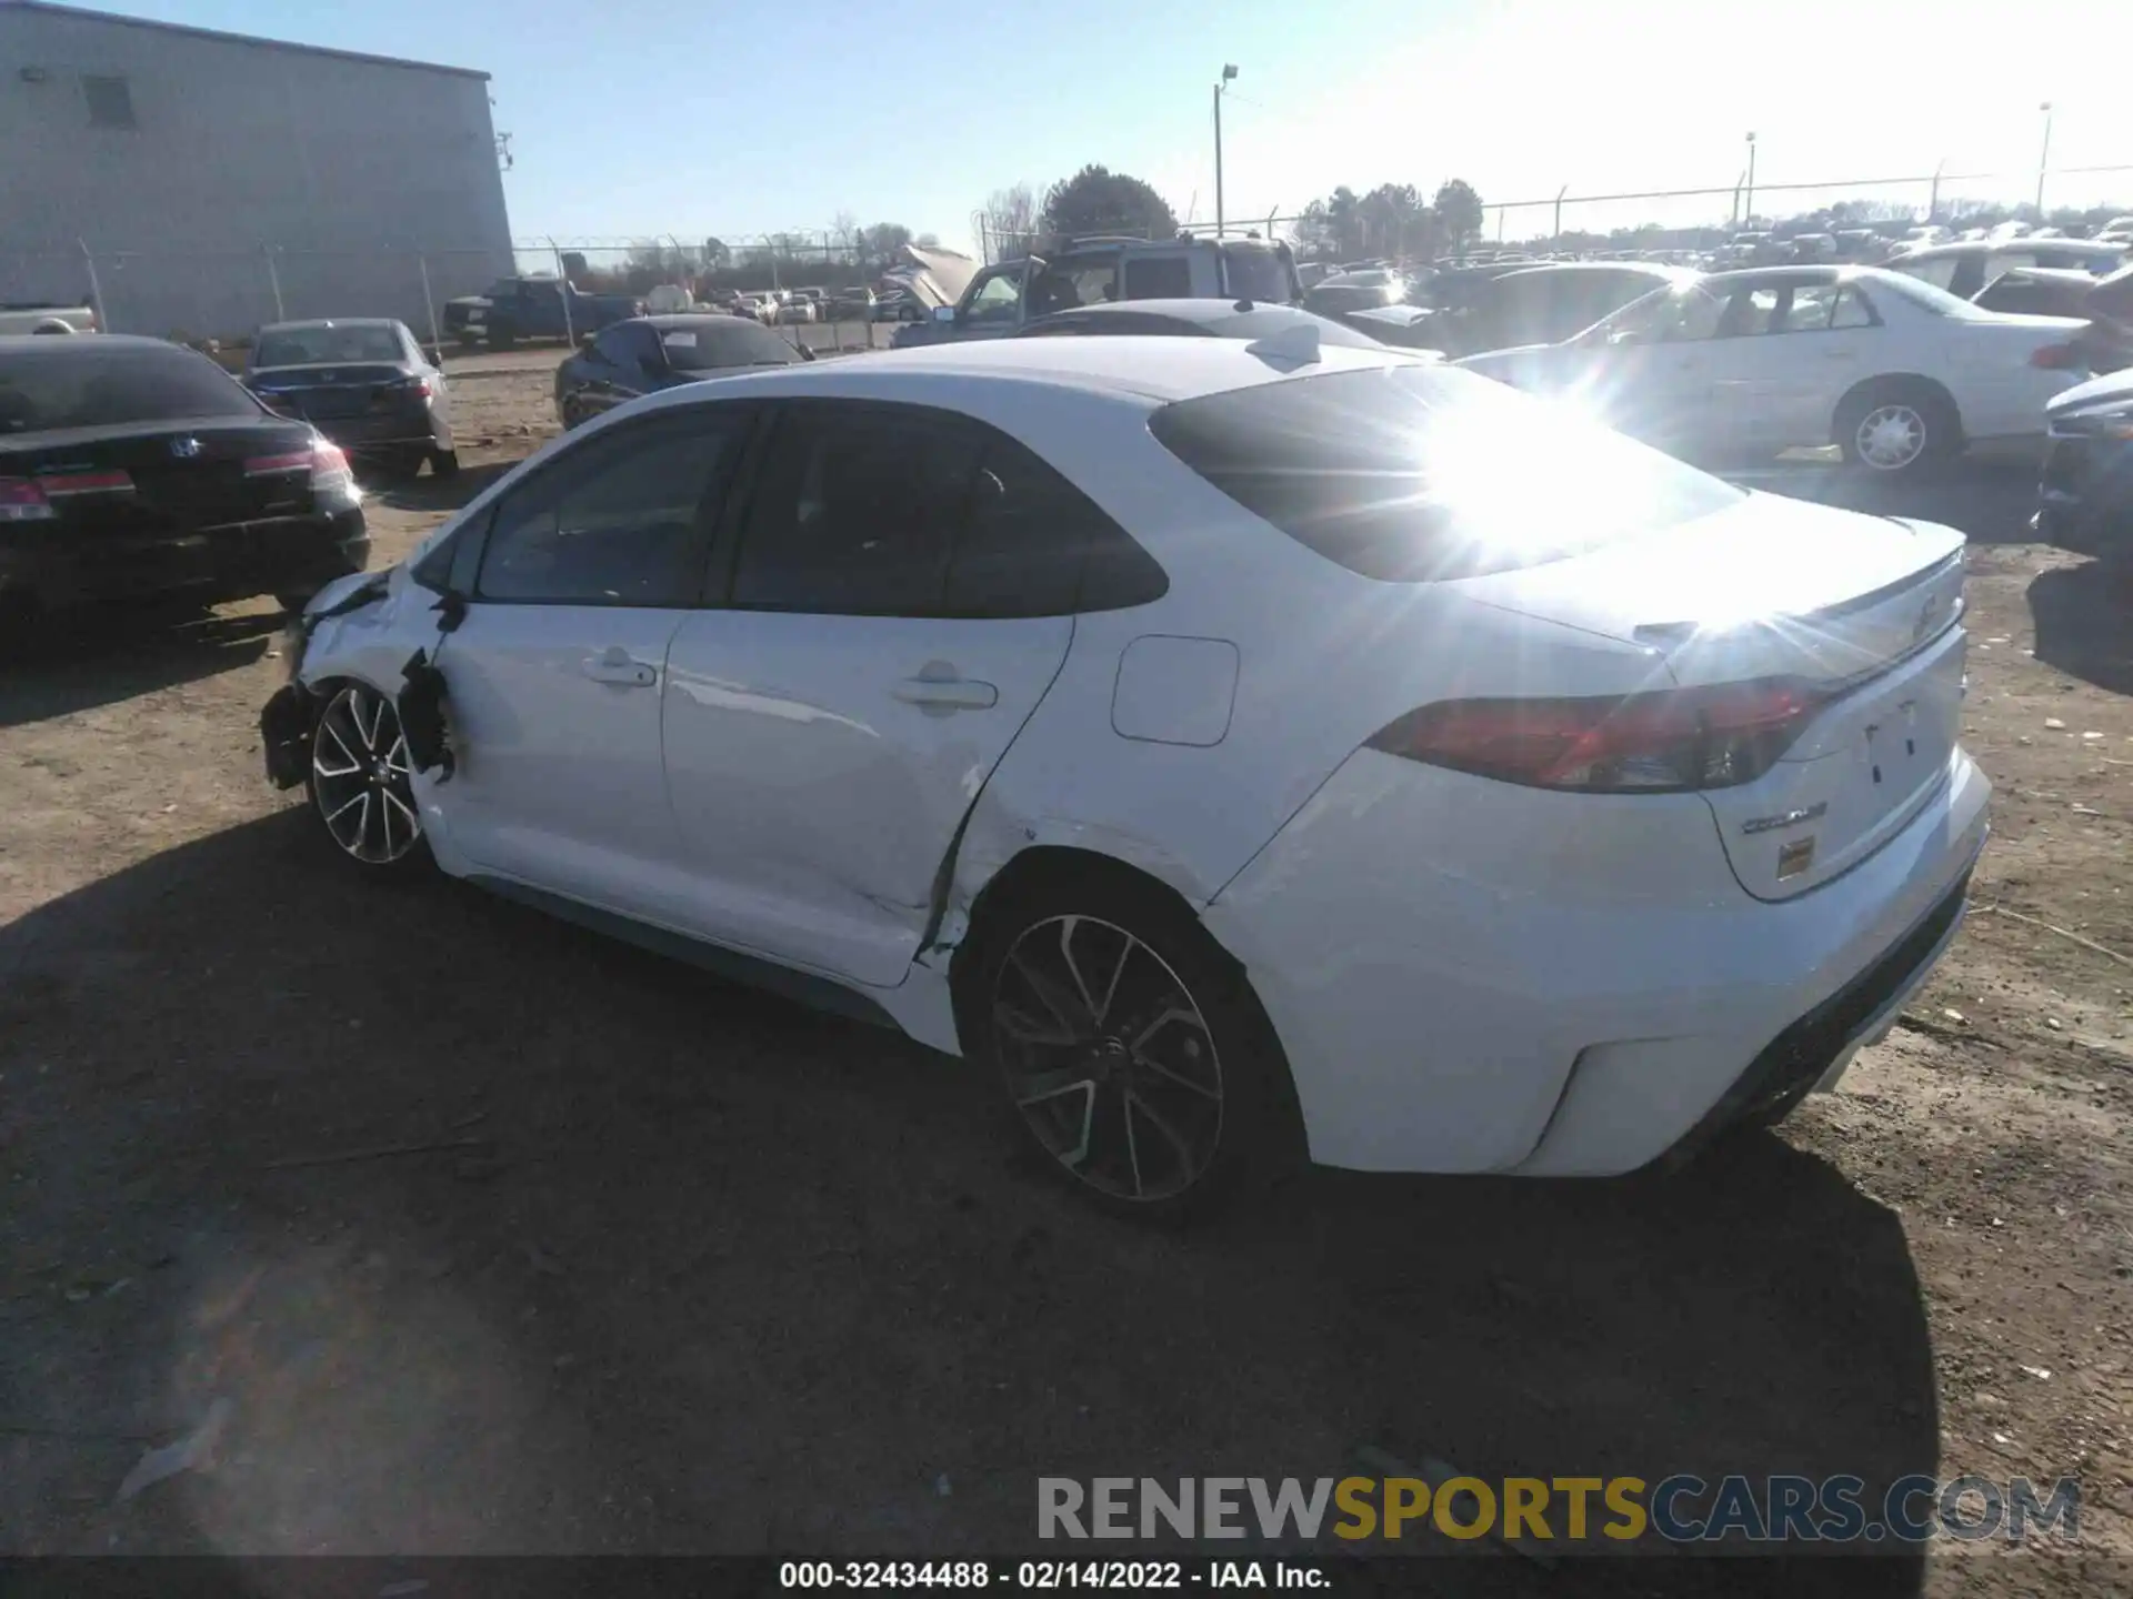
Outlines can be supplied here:
M1792 678L1606 699L1446 699L1386 725L1369 748L1534 789L1730 789L1768 772L1819 704Z

